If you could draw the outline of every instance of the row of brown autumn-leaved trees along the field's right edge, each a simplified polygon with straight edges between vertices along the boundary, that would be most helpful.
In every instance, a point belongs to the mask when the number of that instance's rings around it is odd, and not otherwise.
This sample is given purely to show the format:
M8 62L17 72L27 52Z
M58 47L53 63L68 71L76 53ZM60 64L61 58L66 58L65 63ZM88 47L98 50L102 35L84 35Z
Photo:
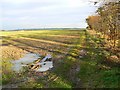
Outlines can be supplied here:
M120 48L120 1L105 2L96 10L96 15L86 19L88 30L100 33L110 48Z

